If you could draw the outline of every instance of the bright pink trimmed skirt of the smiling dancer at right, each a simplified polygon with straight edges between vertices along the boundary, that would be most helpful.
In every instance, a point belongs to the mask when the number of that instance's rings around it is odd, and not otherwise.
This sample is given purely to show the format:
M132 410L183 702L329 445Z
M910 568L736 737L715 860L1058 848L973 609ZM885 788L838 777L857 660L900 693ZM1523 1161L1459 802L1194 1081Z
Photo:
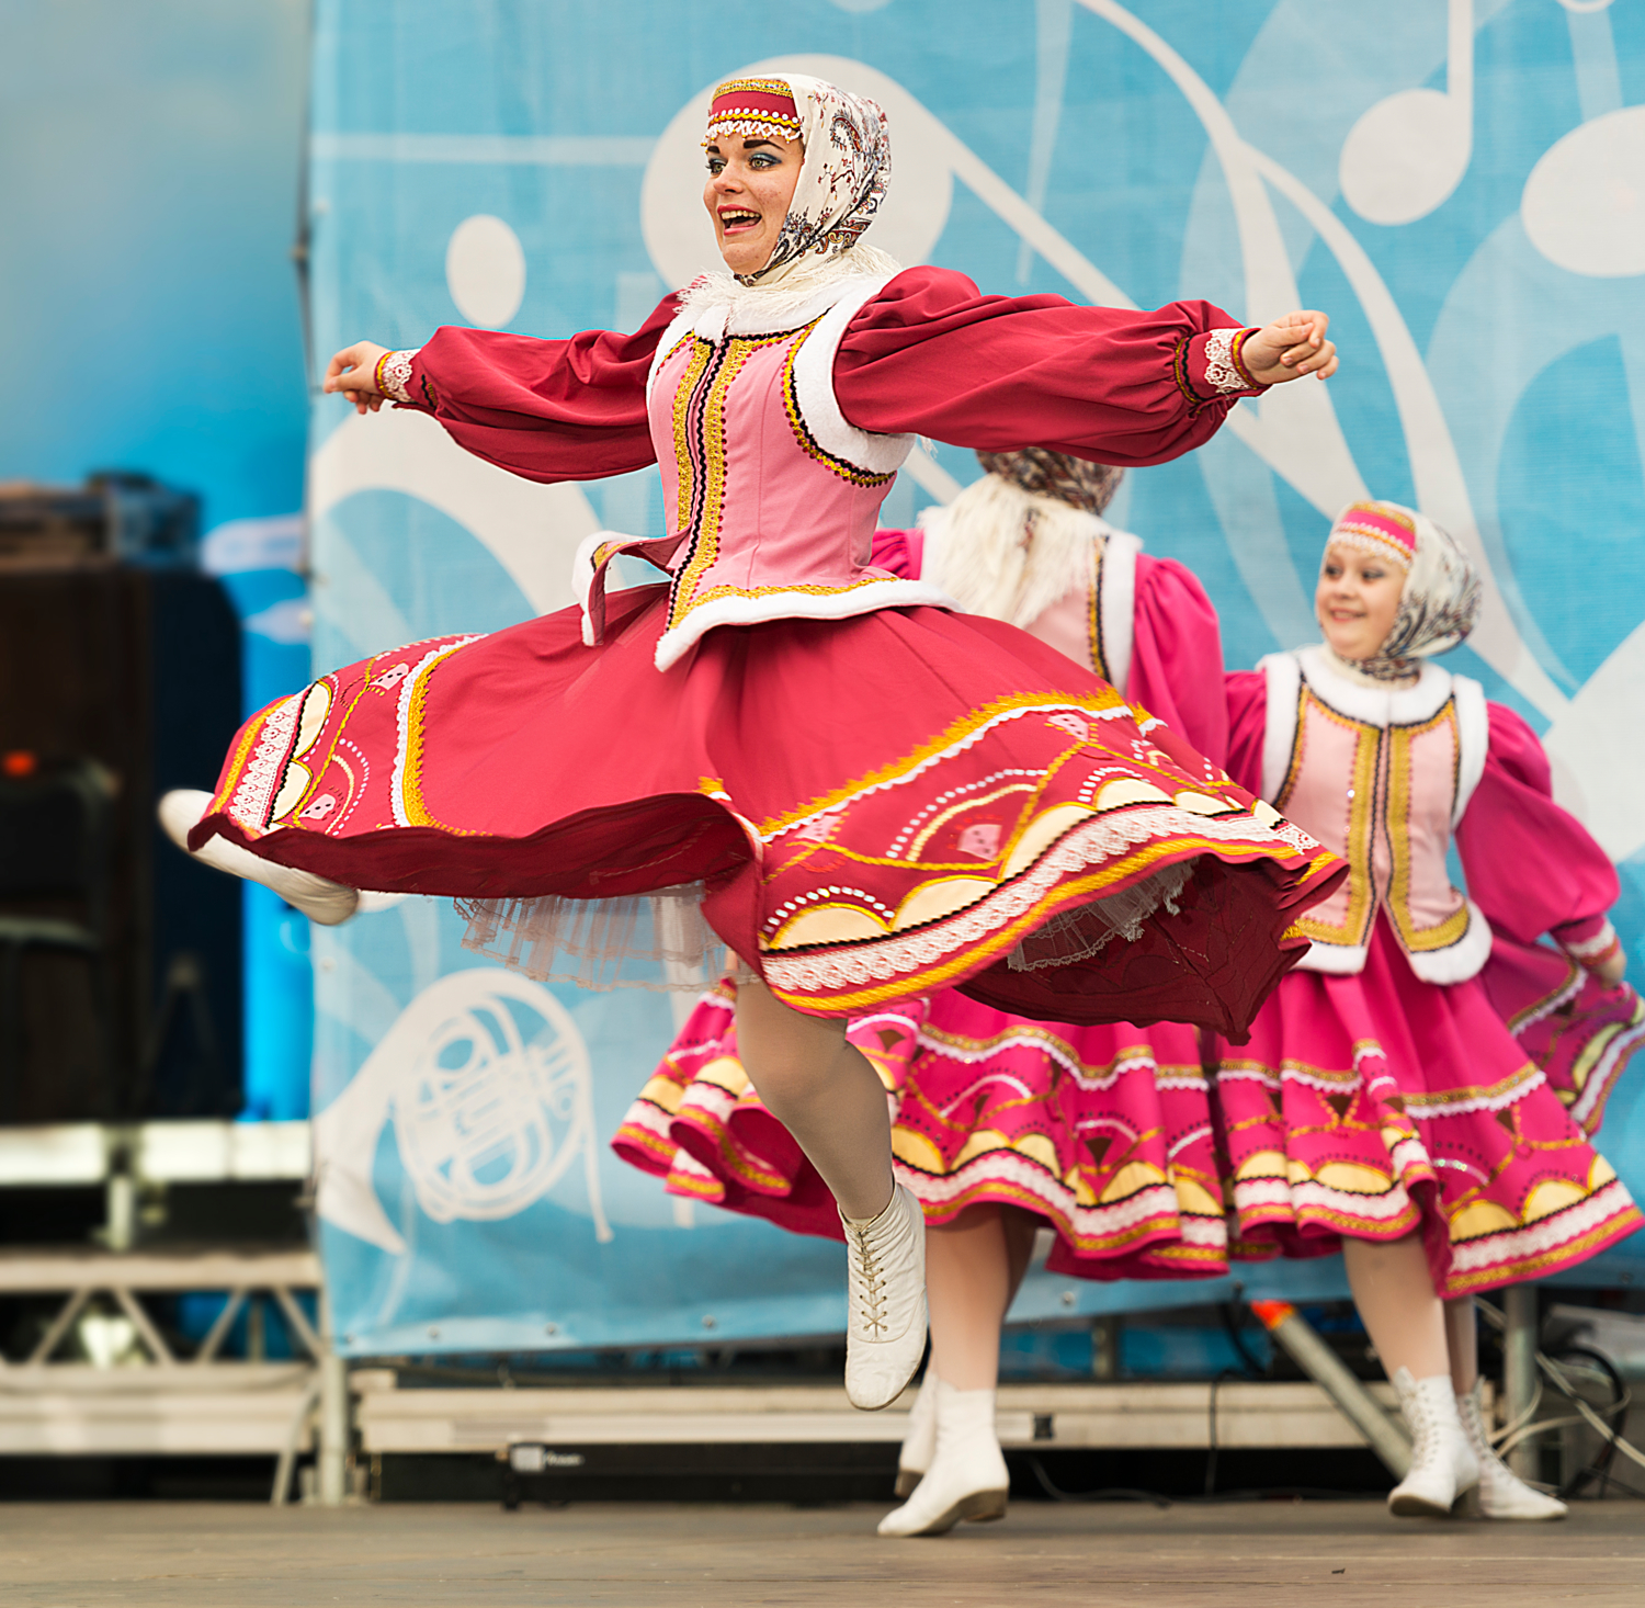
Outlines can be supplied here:
M1528 976L1520 994L1540 986ZM1234 1256L1326 1256L1344 1234L1421 1231L1434 1289L1459 1297L1615 1244L1640 1213L1568 1109L1568 1063L1602 1025L1573 1034L1564 1060L1543 1045L1550 1073L1480 979L1421 983L1382 918L1357 976L1291 973L1249 1043L1219 1042Z

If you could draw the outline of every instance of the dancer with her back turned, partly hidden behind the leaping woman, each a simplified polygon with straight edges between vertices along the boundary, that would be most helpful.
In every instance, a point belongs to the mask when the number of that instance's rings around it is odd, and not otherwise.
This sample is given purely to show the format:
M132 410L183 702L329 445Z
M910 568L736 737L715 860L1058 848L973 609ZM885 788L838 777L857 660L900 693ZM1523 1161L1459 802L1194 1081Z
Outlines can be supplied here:
M1023 627L1221 764L1217 616L1188 569L1102 518L1124 471L1038 448L979 458L989 472L920 530L877 533L875 563ZM739 1062L734 1007L732 979L704 997L614 1146L674 1193L837 1236ZM910 1501L880 1534L943 1534L1005 1513L1000 1330L1041 1225L1059 1274L1227 1271L1199 1034L1040 1022L946 991L867 1012L849 1037L892 1094L897 1175L926 1216L931 1359L898 1458Z

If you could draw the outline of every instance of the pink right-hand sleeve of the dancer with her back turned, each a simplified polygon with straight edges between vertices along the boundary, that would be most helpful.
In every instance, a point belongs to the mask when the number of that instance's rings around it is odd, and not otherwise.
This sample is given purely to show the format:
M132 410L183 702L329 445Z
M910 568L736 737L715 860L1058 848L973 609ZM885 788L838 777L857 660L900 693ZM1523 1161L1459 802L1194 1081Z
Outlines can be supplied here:
M1229 708L1222 688L1217 611L1191 569L1175 558L1137 555L1132 703L1158 714L1214 765L1227 767Z

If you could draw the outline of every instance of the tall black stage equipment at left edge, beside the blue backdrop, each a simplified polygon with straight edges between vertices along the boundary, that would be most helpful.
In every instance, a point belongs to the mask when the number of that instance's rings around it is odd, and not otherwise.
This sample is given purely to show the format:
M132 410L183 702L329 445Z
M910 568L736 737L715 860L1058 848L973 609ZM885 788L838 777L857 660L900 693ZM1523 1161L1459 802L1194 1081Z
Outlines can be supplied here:
M51 543L0 543L0 1122L232 1116L240 884L155 802L215 780L239 620L171 553Z

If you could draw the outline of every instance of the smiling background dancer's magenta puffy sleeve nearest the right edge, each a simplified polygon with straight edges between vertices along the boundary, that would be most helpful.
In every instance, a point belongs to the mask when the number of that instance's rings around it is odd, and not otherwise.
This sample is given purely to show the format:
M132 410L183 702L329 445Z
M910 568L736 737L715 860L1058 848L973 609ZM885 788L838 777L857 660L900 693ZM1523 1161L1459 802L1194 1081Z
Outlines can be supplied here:
M1553 802L1548 755L1530 726L1499 703L1485 708L1485 772L1456 831L1467 892L1508 936L1551 933L1573 960L1597 966L1615 948L1606 918L1620 892L1615 867Z

